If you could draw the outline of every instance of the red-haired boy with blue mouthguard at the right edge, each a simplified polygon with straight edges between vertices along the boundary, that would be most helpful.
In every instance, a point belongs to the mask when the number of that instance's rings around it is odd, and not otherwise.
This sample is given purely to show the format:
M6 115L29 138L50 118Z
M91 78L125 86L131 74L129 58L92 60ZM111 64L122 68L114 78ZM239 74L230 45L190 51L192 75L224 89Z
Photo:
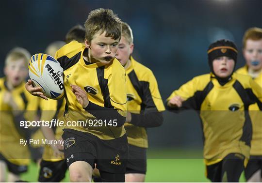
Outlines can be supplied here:
M262 29L250 28L243 37L243 55L246 65L236 73L249 75L262 87ZM253 126L250 159L245 168L247 182L262 182L262 112L258 104L249 107Z

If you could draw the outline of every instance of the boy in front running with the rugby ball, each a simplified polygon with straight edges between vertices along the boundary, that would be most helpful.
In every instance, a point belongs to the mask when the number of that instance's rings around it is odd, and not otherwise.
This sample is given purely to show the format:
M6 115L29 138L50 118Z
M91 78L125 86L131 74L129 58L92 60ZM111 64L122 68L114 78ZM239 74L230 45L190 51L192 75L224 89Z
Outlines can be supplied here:
M128 144L125 70L115 59L121 20L109 9L90 12L85 45L72 41L57 51L64 69L65 121L88 121L64 129L64 153L71 182L91 182L95 163L104 182L124 182ZM33 95L47 99L40 88L26 84ZM89 123L91 122L94 123ZM95 125L101 120L102 126Z

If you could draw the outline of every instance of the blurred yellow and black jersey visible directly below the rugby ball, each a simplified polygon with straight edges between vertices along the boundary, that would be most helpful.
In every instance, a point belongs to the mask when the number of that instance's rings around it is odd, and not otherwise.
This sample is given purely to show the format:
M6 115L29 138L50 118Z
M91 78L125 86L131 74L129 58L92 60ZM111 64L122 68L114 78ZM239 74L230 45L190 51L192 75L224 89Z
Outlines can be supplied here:
M42 99L41 99L42 100ZM48 101L42 100L40 102L40 108L42 111L41 114L41 120L44 121L51 121L52 119L56 119L59 121L64 121L64 112L65 112L65 106L66 106L66 99L63 98L62 100L51 100ZM52 130L55 135L55 139L61 139L63 134L63 128L61 126L52 126ZM60 161L61 159L57 159L53 155L53 149L46 145L44 148L42 159L45 161Z

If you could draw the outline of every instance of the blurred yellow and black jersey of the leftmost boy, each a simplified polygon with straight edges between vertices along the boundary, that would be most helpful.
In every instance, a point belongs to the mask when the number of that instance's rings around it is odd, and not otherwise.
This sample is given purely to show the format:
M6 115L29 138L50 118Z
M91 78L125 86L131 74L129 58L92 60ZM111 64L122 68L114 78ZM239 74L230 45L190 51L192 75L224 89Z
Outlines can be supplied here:
M19 111L14 111L9 104L4 103L6 92L11 92ZM16 165L29 164L29 148L28 146L20 145L20 139L28 140L30 133L28 130L20 127L20 121L35 120L36 98L26 91L24 82L12 91L9 91L6 78L0 78L0 153Z

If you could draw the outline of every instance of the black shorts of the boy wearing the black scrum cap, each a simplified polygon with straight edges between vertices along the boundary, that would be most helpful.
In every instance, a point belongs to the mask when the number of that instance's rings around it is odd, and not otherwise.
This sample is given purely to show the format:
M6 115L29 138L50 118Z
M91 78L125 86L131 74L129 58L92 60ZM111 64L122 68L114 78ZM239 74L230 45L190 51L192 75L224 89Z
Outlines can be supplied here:
M207 178L212 182L239 182L244 160L244 155L230 153L222 161L206 166Z

